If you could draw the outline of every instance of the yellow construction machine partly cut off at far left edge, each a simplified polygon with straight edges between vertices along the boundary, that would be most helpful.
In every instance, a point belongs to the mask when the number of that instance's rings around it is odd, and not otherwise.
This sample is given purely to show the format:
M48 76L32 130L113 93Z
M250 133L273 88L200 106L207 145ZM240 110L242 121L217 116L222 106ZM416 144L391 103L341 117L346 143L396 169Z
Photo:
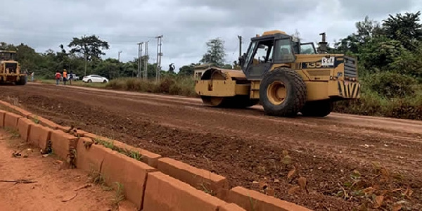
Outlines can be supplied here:
M15 61L16 51L0 50L0 82L14 82L25 85L27 75L20 72L20 65Z

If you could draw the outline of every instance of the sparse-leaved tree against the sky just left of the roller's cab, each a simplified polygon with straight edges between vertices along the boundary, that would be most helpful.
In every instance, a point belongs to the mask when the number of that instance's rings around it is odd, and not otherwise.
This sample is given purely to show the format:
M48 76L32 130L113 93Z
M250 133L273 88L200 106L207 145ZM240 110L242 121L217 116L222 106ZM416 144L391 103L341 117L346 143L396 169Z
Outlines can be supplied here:
M207 53L203 55L200 63L214 63L221 67L224 65L226 53L224 49L224 41L219 38L210 39L207 41Z

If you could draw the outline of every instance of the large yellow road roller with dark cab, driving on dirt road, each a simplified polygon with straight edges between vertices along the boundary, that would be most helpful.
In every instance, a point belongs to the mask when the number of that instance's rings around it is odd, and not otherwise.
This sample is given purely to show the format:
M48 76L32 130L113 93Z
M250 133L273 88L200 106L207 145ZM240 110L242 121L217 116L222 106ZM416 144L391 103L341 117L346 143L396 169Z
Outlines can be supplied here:
M357 58L327 53L326 34L319 35L315 48L279 30L257 34L239 57L242 70L207 68L196 94L213 107L260 103L266 115L325 117L334 101L360 98L360 84Z

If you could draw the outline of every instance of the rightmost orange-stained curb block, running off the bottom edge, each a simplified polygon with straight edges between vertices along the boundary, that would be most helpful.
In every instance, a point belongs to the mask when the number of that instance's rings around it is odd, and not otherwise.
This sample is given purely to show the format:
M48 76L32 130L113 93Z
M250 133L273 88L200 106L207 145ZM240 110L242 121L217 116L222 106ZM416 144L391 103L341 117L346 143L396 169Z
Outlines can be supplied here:
M252 202L251 202L252 200ZM312 211L305 207L280 200L263 193L252 191L241 186L232 188L229 192L229 202L236 203L245 210L274 210L274 211ZM252 204L251 204L252 203ZM253 206L253 207L252 207Z

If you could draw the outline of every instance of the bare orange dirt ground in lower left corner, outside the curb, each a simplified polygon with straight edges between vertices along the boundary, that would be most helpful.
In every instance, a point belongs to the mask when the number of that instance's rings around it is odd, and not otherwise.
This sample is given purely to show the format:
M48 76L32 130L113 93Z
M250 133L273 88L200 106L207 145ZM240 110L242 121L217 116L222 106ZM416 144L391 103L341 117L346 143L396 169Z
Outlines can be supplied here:
M35 149L27 151L19 138L0 130L0 210L109 210L113 191L100 186L75 189L86 185L87 174L80 170L62 169L54 156L43 158ZM23 151L27 158L13 158ZM5 182L23 179L34 183Z

